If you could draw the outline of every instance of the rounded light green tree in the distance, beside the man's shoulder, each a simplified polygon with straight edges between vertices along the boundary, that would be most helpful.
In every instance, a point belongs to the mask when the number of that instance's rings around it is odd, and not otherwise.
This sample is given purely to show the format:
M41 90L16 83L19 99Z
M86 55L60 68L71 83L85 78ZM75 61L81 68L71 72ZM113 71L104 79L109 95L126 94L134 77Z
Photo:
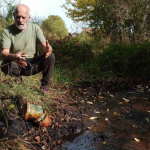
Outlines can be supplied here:
M51 15L41 25L46 38L62 39L68 36L64 21L59 16Z

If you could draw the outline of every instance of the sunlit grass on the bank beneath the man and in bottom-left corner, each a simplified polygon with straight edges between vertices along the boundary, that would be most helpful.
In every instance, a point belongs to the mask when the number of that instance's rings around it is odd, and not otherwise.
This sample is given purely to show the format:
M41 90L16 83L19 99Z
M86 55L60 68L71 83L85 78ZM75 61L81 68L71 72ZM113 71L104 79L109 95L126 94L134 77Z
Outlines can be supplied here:
M65 94L65 91L61 87L70 86L75 78L75 74L71 70L69 71L60 67L55 68L50 83L51 96L47 98L39 90L41 73L34 76L23 76L23 83L20 83L15 77L5 76L1 71L0 76L0 114L2 115L0 119L5 119L4 123L7 124L7 127L9 126L7 112L21 98L26 99L29 103L43 106L48 113L57 113L57 110L53 108L53 104L55 104L55 100L61 100ZM30 143L28 139L24 138L12 140L0 139L0 149L27 150L32 149L33 145L34 143Z

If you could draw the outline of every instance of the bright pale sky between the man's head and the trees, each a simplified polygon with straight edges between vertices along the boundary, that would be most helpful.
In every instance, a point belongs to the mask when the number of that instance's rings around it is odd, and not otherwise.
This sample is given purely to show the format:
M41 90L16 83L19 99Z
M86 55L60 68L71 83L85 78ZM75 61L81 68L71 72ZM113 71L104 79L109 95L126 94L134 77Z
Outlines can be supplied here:
M82 30L67 17L65 9L61 8L65 4L65 0L20 0L20 3L30 8L31 17L37 16L46 19L49 15L58 15L65 22L68 32L74 33Z

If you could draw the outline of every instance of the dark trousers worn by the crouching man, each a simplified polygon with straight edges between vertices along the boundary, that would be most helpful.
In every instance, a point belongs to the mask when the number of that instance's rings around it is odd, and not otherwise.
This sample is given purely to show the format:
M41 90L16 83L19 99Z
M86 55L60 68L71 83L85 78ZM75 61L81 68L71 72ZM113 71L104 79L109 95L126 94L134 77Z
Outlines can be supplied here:
M26 67L18 65L15 61L3 61L1 70L5 75L9 74L15 77L35 75L42 71L41 86L49 85L55 63L54 53L47 58L45 55L27 58L25 62L27 63Z

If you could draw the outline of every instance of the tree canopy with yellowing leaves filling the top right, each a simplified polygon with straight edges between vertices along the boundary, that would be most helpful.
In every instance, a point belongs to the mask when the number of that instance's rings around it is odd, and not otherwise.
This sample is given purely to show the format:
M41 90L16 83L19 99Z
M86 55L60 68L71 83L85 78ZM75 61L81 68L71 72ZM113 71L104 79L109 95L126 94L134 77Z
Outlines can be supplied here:
M128 36L134 44L135 34L149 33L150 0L66 0L63 7L74 21L88 22L113 38Z

